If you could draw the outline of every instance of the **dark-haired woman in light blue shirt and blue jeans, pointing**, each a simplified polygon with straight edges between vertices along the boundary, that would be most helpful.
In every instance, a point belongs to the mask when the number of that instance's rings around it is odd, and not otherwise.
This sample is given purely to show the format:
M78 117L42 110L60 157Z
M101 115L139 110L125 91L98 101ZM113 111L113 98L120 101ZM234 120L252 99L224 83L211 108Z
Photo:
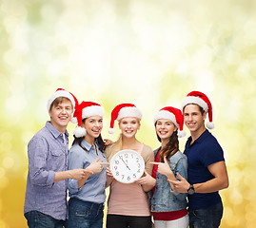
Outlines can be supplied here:
M82 180L69 179L69 228L100 228L106 199L105 143L101 137L104 110L100 104L82 102L75 108L74 142L69 150L69 169L83 168ZM73 120L72 120L73 122Z

